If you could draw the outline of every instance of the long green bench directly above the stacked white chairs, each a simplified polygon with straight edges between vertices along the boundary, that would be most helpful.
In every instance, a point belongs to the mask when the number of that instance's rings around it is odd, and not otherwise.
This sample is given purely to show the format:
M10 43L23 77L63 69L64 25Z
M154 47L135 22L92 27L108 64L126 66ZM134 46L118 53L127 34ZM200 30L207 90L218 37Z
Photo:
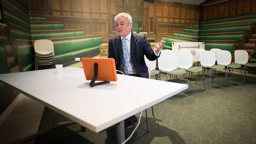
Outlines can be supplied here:
M84 36L84 31L65 31L65 32L47 32L47 33L33 33L32 39L53 39L53 38L65 38L73 36Z

